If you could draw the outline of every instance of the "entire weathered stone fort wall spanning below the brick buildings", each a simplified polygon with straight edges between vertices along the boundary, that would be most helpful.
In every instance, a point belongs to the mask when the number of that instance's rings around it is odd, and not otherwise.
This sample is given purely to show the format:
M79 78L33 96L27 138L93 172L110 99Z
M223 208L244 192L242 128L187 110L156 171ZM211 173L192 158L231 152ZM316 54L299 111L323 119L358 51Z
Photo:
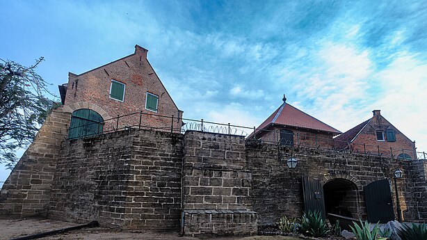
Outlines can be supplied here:
M40 143L37 139L33 144ZM392 179L393 170L401 168L405 178L399 179L398 191L404 219L426 221L427 216L425 161L251 143L242 136L200 131L182 135L133 129L51 147L58 154L47 156L49 161L24 157L27 172L19 165L13 170L1 191L1 213L97 220L126 230L181 227L193 236L255 234L257 227L281 216L300 216L303 175L323 184L332 179L352 182L357 190L346 205L355 217L366 218L363 186ZM32 152L30 147L26 154ZM287 168L289 157L298 159L296 168ZM15 193L26 193L23 189L35 179L31 176L47 173L35 166L50 166L49 181L37 182L49 194L31 193L43 204L25 205L29 210L22 211L19 202L29 195Z

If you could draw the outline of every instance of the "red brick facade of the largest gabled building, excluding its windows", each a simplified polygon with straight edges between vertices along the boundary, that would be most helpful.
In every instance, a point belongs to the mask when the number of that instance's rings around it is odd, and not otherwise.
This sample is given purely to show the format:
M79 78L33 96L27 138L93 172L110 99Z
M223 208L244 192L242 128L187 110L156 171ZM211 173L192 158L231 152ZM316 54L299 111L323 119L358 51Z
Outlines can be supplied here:
M123 101L110 97L112 80L125 84ZM159 97L156 112L145 108L147 93ZM116 118L118 115L127 115L140 111L168 117L173 115L175 118L173 127L174 129L180 129L183 113L179 111L148 62L147 49L138 45L135 46L134 54L120 58L112 63L79 75L70 72L64 109L69 112L76 109L97 111L106 120L104 131L116 127L117 120L107 120L108 118ZM139 118L139 114L120 118L119 127L139 125ZM170 129L172 119L142 115L141 125Z

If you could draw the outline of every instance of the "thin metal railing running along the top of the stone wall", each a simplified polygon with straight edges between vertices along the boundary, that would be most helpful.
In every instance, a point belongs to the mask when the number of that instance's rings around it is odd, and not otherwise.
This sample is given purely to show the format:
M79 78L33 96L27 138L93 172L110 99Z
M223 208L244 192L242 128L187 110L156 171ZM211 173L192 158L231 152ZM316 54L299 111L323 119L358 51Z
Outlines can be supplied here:
M102 122L92 122L86 125L70 127L69 133L75 131L77 134L70 136L67 140L76 138L86 138L106 134L113 131L125 129L148 129L155 131L169 131L171 133L185 133L186 131L204 131L215 134L228 134L244 136L251 143L266 143L284 145L291 147L310 147L316 149L335 150L340 152L351 152L357 154L376 155L380 157L390 157L393 159L427 159L426 152L415 152L413 149L398 147L386 147L380 144L369 145L366 143L349 143L339 141L335 138L325 138L325 134L289 133L280 129L257 129L256 127L244 127L209 122L203 119L193 120L179 118L174 115L158 115L153 113L129 113L127 115L117 115L114 118L106 119Z

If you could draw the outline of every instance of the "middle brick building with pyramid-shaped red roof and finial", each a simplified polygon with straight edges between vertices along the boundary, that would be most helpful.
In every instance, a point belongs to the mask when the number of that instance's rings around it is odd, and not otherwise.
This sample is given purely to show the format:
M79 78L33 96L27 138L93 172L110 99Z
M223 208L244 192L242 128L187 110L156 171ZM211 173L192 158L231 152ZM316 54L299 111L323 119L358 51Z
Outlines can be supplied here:
M332 138L338 134L341 131L291 106L284 97L283 104L248 139L288 146L332 148L335 145Z

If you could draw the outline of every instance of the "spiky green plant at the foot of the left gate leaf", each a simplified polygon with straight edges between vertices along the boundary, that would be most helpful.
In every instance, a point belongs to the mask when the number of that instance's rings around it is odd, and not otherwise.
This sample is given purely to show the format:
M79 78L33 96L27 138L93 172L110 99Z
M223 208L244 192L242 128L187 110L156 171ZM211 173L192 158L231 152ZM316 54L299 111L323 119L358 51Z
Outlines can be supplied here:
M308 211L301 218L300 232L312 237L323 237L328 234L329 229L320 211Z

